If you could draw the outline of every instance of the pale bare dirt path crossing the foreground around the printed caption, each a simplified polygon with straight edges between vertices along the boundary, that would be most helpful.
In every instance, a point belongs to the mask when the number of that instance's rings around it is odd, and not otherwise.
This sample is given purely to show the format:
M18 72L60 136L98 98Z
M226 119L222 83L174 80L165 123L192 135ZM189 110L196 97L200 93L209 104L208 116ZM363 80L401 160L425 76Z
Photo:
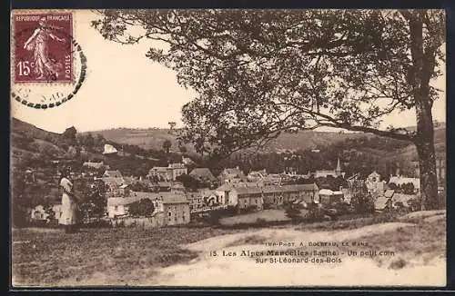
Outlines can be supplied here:
M150 281L139 285L170 286L442 286L446 281L445 258L437 258L425 265L419 261L406 264L399 270L379 266L368 258L343 258L341 263L257 263L244 256L210 256L210 251L236 252L242 250L266 251L262 244L242 243L248 239L258 242L344 242L369 235L412 226L406 222L390 222L339 232L299 232L293 229L230 234L187 245L200 256L187 264L172 265L157 270ZM240 243L240 244L238 244ZM237 245L236 245L237 244ZM274 250L277 250L274 247ZM288 248L287 248L288 249Z

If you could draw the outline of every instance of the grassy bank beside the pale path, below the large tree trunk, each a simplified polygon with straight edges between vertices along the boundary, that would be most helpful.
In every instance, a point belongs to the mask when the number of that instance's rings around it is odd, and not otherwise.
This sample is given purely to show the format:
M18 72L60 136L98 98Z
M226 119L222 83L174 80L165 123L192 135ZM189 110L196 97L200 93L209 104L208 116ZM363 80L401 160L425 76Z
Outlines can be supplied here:
M385 222L409 222L413 225L400 227L393 232L384 232L380 235L363 235L358 242L367 242L359 250L363 252L384 251L393 252L389 257L372 257L377 261L379 266L386 266L391 269L400 269L415 261L417 258L426 263L438 256L444 257L446 254L446 216L445 213L437 213L427 217L425 215L408 215L395 216L387 219L385 215L379 214L374 217L355 218L336 222L318 222L298 226L299 231L347 231L359 229L364 226L378 225ZM419 213L418 213L419 214ZM247 242L241 242L247 243ZM248 238L248 243L262 244L259 238ZM240 244L240 243L239 243ZM300 248L300 250L310 250L310 247ZM340 246L341 252L351 250L352 246Z

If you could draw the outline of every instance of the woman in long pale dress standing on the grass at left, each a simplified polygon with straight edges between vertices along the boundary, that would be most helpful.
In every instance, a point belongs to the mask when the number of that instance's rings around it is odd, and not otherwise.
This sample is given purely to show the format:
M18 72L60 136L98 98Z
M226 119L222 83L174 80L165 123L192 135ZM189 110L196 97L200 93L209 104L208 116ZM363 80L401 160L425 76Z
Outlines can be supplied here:
M77 211L78 205L76 196L73 191L73 183L69 180L70 170L65 168L62 170L62 180L60 186L63 188L62 194L62 215L59 223L64 225L65 232L76 232Z

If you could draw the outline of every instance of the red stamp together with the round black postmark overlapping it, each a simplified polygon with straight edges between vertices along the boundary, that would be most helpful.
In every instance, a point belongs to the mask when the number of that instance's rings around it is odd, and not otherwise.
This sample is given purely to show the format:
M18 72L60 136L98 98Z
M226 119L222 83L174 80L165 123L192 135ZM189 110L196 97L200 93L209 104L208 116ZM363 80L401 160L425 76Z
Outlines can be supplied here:
M12 15L12 98L35 109L59 106L86 78L86 55L74 37L74 12Z

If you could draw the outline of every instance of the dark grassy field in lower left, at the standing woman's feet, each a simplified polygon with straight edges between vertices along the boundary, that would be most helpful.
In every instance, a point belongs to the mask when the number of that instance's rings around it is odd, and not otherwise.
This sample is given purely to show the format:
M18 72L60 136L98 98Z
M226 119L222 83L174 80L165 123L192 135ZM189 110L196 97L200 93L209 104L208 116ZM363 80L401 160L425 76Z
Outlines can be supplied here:
M99 275L107 275L106 282L131 282L152 277L157 267L197 257L180 249L180 244L232 232L208 227L82 229L74 234L55 229L14 230L13 284L76 283Z

